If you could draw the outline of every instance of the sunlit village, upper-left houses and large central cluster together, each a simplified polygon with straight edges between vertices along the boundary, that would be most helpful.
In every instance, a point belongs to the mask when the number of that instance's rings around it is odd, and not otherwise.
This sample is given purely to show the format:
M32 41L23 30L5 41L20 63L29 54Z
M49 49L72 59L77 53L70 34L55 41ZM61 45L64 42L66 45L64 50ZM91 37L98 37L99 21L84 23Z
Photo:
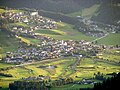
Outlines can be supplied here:
M54 20L42 17L38 14L38 12L12 12L11 10L8 10L7 12L1 14L0 17L2 19L7 19L9 21L8 24L19 22L25 24L25 26L10 25L10 30L15 33L16 37L26 35L40 40L40 43L37 46L27 46L20 41L20 45L16 51L6 52L6 57L2 58L2 60L6 63L21 64L67 56L96 56L99 51L110 48L105 45L96 45L94 42L88 42L85 40L55 40L48 36L38 35L33 31L38 29L51 30L57 28ZM83 22L88 25L91 24L90 21L88 22L83 20ZM101 33L99 35L99 37L101 37L104 34ZM80 51L83 51L86 54L83 52L80 53Z

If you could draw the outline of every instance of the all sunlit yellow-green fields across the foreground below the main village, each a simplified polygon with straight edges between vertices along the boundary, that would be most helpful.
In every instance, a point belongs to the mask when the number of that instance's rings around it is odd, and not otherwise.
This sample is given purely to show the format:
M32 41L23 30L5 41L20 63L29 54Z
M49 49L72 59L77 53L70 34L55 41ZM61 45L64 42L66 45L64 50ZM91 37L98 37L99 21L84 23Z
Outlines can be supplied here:
M82 80L83 78L92 78L94 77L94 73L101 72L104 75L107 73L112 72L120 72L120 67L117 65L108 64L105 62L98 62L94 61L92 58L83 58L81 59L80 63L77 64L74 69L71 69L71 65L74 66L74 63L77 59L68 57L63 59L53 59L53 60L44 60L36 63L32 63L31 65L25 65L25 66L19 66L13 69L9 69L6 71L1 71L5 74L11 74L13 77L1 77L0 78L0 86L2 87L8 87L8 84L10 82L13 82L15 80L19 80L23 77L29 77L29 76L39 76L39 75L45 75L50 76L52 80L58 79L59 77L72 77L75 81ZM10 64L3 64L0 63L0 67L11 67ZM43 68L40 68L39 66L44 66ZM48 68L49 66L56 66L56 68ZM74 73L73 73L74 72ZM77 77L76 77L77 76ZM73 85L73 86L72 86ZM69 88L83 88L83 87L92 87L92 85L78 85L78 84L72 84L72 85L64 85L60 86L63 90L66 90ZM55 87L53 90L57 90Z

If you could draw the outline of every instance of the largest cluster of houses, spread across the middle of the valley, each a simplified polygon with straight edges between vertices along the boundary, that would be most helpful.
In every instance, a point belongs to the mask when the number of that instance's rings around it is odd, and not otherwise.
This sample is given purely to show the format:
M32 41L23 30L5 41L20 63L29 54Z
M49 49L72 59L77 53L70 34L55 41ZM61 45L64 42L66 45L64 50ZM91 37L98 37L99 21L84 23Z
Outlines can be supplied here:
M67 56L82 57L83 54L76 52L78 50L93 51L100 50L102 46L92 44L85 40L54 40L50 37L40 38L40 46L37 47L19 47L15 52L7 52L3 60L6 63L25 63L32 61L39 61L44 59L54 59Z

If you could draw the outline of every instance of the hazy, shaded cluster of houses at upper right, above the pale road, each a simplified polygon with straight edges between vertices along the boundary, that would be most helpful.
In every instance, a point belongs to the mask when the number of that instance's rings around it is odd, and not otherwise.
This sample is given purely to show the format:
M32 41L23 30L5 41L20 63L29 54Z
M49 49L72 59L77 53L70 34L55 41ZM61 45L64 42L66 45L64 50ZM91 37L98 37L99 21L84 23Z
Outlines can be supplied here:
M84 19L82 17L78 17L78 20L80 21L78 29L89 36L103 37L107 33L117 33L120 31L119 25L98 23L95 21Z

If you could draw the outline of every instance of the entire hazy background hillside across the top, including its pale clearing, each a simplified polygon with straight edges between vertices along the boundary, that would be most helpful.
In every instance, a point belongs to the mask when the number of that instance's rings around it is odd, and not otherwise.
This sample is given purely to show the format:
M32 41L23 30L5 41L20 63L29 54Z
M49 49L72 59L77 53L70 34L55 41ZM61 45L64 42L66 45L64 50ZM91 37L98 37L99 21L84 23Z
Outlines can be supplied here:
M120 19L119 3L119 0L0 0L0 6L82 15L104 23L114 23Z

